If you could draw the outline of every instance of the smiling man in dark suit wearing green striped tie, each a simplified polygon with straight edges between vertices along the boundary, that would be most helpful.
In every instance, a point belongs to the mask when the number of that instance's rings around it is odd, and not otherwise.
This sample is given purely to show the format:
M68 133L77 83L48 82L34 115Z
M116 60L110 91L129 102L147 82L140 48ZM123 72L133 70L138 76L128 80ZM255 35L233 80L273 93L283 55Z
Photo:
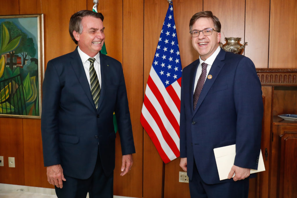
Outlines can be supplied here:
M70 18L78 47L48 62L42 91L41 132L48 182L59 198L113 197L116 114L122 150L121 175L135 153L121 63L99 53L103 15L90 10Z

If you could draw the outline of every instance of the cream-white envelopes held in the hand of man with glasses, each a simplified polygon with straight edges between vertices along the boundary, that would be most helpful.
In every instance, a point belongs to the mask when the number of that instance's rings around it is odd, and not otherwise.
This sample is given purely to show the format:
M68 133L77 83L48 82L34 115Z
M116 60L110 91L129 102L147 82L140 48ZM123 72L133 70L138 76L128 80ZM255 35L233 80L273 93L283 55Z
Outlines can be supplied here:
M216 158L220 180L228 179L228 174L234 164L234 159L236 154L235 150L236 150L235 144L230 146L214 148L214 156ZM264 166L262 152L260 150L258 170L251 169L250 173L261 172L261 171L265 171L265 166Z

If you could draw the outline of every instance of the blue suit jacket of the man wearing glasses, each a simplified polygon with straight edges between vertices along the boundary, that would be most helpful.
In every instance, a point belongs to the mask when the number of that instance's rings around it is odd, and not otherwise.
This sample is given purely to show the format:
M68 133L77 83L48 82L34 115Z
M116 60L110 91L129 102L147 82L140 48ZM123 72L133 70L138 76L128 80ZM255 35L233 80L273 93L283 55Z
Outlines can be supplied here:
M194 159L208 184L220 183L214 148L236 144L234 165L257 169L263 101L252 61L220 50L193 110L193 90L199 59L183 69L181 80L180 153L187 157L192 178ZM230 180L229 180L230 181Z

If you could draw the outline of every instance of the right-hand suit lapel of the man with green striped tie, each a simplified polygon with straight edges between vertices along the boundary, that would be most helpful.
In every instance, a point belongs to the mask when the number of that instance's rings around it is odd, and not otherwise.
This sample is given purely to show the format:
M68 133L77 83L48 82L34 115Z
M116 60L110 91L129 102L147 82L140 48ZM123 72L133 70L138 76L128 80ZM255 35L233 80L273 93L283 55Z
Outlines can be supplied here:
M100 53L100 71L101 71L101 92L100 92L100 97L99 97L99 101L98 101L98 110L101 107L101 103L103 101L103 97L107 88L107 82L108 82L108 70L109 70L109 66L108 63L106 61L106 55L103 55L102 53Z

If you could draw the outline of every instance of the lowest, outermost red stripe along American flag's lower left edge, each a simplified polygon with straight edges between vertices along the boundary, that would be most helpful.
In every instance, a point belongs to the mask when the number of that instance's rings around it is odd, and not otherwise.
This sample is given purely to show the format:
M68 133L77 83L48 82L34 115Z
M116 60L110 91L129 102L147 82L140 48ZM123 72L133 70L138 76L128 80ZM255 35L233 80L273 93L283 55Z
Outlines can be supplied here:
M146 132L149 135L149 137L151 138L151 140L153 141L153 143L154 143L155 147L157 148L157 151L159 152L159 155L161 156L164 163L170 162L170 159L168 158L168 156L162 149L162 146L160 145L160 142L159 142L156 134L154 133L153 129L151 128L149 123L146 121L146 119L143 117L142 113L140 115L140 123L143 126L143 128L146 130Z

